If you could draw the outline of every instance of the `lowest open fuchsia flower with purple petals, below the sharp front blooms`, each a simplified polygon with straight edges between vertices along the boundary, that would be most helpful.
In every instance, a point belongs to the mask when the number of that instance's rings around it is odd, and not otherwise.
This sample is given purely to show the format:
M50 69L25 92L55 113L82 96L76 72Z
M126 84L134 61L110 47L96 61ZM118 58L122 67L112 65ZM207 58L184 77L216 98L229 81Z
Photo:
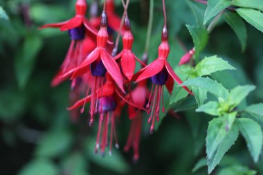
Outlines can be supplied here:
M106 82L105 84L100 88L96 89L97 91L94 91L93 94L88 95L87 97L83 98L82 100L79 100L78 102L75 102L72 107L69 107L69 110L77 109L78 107L84 108L84 105L87 102L92 102L92 98L97 97L98 98L98 111L100 113L100 119L99 119L99 126L98 126L98 134L97 134L97 140L96 140L96 149L95 151L98 151L98 148L100 147L100 153L103 155L105 154L105 148L108 145L107 136L108 136L108 122L111 123L111 133L110 133L110 142L109 142L109 154L111 154L112 150L112 142L113 137L115 137L116 140L116 147L118 148L118 142L116 138L116 126L115 126L115 118L119 116L120 114L120 105L121 100L124 102L127 102L129 105L132 105L134 107L137 107L138 109L146 110L141 106L137 106L136 104L133 104L127 98L125 98L122 93L118 90L118 87L115 85L114 80L111 78L109 73L106 74ZM121 100L120 100L121 99ZM91 119L93 122L93 119ZM103 131L102 131L103 127ZM100 139L102 131L102 137ZM101 141L100 141L101 140Z

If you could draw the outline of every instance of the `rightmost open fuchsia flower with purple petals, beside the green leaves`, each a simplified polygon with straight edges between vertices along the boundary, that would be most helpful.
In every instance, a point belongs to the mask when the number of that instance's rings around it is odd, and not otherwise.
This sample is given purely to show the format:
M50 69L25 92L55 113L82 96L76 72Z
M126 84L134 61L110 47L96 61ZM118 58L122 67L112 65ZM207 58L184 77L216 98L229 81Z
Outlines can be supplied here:
M170 46L168 44L168 33L166 26L163 27L161 44L158 47L158 58L154 60L151 64L141 69L138 73L134 75L134 79L136 82L140 82L149 77L152 79L152 90L151 95L149 97L149 102L147 104L147 109L152 109L151 115L149 117L148 122L152 121L152 125L150 127L150 132L154 130L154 121L155 119L159 120L159 111L161 105L163 106L163 86L167 87L167 90L172 93L172 89L174 86L174 80L178 84L182 84L181 79L174 73L172 67L169 62L167 62L167 57L170 52ZM155 86L155 88L154 88ZM188 93L192 92L186 86L182 86L183 89L188 91ZM154 93L152 93L154 89ZM162 102L162 104L161 104ZM164 107L162 108L163 113L165 112Z

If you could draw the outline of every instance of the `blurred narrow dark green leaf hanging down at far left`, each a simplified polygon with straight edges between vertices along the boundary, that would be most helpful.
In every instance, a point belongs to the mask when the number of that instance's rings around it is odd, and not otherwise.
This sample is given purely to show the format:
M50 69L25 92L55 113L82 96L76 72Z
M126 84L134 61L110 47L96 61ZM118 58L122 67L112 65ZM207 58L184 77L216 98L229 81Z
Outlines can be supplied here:
M28 82L35 65L37 53L42 48L42 44L42 39L39 36L29 35L15 57L15 74L21 89Z

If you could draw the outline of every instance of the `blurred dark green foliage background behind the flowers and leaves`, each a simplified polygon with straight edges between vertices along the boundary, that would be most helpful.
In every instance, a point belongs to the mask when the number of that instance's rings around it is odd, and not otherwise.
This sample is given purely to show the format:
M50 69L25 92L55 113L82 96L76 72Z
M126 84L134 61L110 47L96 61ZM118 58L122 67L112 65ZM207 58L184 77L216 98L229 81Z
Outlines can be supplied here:
M154 2L150 59L157 55L163 25L161 1ZM200 158L206 157L206 129L212 118L195 113L194 108L179 112L176 117L168 114L153 134L149 134L145 116L140 159L136 163L132 151L123 151L131 123L126 113L117 121L120 149L104 158L94 154L96 125L89 127L87 113L73 122L66 111L70 82L55 88L50 85L69 47L69 35L58 29L37 30L43 24L73 17L74 3L75 0L0 1L0 174L207 174L207 167L196 172L192 169ZM197 25L206 5L190 0L166 0L166 5L169 59L175 66L185 52L182 44L188 50L193 47L185 24ZM121 17L122 12L118 0L116 13ZM131 0L128 12L134 53L142 57L149 1ZM248 101L256 103L263 100L263 35L247 23L246 30L246 49L242 52L237 36L222 17L201 57L219 55L228 60L237 71L212 76L228 89L238 84L255 84L257 89ZM263 174L262 158L253 163L241 136L213 174L230 165L246 165Z

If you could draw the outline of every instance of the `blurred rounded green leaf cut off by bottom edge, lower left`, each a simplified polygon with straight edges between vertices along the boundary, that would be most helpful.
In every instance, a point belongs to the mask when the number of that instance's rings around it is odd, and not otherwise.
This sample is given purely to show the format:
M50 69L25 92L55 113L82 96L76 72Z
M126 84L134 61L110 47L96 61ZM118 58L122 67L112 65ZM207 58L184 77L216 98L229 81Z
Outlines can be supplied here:
M58 175L57 167L48 159L36 159L24 166L18 175Z

